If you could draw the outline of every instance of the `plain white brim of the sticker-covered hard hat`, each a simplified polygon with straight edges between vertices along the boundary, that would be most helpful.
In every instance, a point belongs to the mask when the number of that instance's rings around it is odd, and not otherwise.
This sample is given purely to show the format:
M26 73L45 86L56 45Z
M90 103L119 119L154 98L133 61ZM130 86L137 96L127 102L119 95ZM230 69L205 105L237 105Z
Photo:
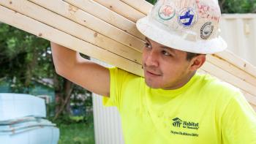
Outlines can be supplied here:
M222 37L207 40L187 40L182 36L173 34L165 29L159 28L149 20L148 16L140 18L136 23L137 29L149 39L165 45L169 48L183 50L190 53L211 54L218 53L227 48L227 43ZM185 35L185 34L184 34Z

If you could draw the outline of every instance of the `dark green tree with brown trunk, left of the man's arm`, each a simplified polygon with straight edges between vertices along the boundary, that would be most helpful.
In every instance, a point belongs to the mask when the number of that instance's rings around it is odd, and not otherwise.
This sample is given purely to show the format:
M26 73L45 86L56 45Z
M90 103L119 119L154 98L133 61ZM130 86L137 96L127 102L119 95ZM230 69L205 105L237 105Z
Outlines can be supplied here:
M0 24L0 83L11 83L12 92L30 94L34 82L53 80L46 86L54 88L56 115L69 114L70 96L86 94L69 80L56 74L50 42L4 23Z

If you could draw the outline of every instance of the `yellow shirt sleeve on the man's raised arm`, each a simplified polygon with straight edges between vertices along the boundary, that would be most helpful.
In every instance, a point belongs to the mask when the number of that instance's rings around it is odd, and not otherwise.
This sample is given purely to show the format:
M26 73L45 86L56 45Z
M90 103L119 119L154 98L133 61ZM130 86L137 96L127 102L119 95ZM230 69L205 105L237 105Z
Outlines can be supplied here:
M118 109L121 105L121 89L129 72L116 67L109 68L110 71L110 96L102 96L103 105L116 106Z

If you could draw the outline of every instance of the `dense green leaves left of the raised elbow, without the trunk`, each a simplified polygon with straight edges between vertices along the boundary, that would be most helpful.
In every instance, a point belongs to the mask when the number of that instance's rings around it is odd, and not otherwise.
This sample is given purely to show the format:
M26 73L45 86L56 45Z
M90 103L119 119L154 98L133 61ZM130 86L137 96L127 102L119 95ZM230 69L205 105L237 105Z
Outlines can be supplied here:
M0 79L12 91L29 94L31 80L53 75L49 42L12 26L0 24Z

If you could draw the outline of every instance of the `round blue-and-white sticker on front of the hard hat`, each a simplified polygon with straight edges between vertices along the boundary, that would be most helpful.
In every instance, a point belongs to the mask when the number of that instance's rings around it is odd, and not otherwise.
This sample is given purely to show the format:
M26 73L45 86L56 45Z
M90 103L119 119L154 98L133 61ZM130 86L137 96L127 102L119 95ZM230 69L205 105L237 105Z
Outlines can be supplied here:
M178 23L185 28L193 26L197 22L197 13L191 7L186 7L178 12Z

